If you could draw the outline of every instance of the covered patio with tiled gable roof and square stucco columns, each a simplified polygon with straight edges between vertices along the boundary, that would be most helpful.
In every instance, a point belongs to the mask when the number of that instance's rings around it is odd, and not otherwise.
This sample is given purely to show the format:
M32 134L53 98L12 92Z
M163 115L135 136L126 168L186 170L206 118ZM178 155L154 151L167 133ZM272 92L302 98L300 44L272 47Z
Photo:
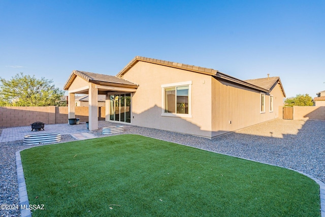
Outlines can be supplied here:
M112 102L114 101L114 96L118 96L116 109L121 109L120 96L126 96L128 94L130 99L131 107L131 98L132 93L135 92L138 88L138 84L129 82L127 80L111 76L96 74L91 72L82 72L74 70L66 84L64 84L63 89L68 90L68 118L75 118L75 95L76 94L88 94L89 95L89 105L88 105L88 121L89 121L89 130L98 130L98 95L106 96L106 110L105 110L105 120L120 121L120 118L111 118L112 114ZM110 99L110 96L113 96L113 99ZM115 106L114 106L115 107ZM131 109L130 111L131 112ZM125 120L125 117L124 117Z

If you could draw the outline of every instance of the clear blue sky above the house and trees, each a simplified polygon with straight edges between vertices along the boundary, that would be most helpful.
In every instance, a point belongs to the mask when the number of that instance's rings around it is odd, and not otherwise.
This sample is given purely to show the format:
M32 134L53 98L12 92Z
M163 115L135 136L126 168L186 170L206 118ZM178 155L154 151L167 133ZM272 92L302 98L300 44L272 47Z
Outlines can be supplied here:
M0 77L116 75L136 55L325 90L325 1L0 0Z

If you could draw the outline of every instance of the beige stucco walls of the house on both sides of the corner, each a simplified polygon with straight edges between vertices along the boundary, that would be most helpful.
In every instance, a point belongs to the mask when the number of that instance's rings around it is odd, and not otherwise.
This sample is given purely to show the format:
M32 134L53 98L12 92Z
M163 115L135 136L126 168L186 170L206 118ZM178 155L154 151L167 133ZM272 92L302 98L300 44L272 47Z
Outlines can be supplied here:
M265 93L261 113L261 91L188 72L139 61L122 77L139 84L132 98L132 125L215 137L279 117L283 95L279 84ZM191 81L191 117L161 116L161 85ZM273 111L270 111L273 96ZM230 123L231 121L231 123Z

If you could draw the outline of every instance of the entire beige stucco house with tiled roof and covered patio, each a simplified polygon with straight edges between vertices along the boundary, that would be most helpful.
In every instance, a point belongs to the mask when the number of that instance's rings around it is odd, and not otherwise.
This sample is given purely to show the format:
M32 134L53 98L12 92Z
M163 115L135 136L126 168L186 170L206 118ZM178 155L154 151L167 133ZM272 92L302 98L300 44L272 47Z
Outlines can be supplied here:
M73 71L64 85L69 118L75 94L89 94L89 129L98 129L98 95L106 120L214 138L279 117L279 77L240 80L214 69L136 56L116 76ZM282 114L282 111L281 111Z

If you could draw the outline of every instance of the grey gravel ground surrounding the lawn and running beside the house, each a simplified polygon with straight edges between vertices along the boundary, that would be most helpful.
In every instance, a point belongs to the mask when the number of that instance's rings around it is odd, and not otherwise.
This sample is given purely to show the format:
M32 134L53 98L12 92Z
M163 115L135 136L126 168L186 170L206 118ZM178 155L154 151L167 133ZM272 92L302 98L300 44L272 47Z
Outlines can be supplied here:
M275 119L212 140L134 126L126 126L124 132L118 134L140 134L295 169L325 182L324 132L325 121ZM91 133L97 137L111 136L101 131ZM73 140L70 135L62 135L62 142ZM19 203L15 152L26 147L22 140L0 143L0 204ZM1 217L19 214L19 210L0 209Z

